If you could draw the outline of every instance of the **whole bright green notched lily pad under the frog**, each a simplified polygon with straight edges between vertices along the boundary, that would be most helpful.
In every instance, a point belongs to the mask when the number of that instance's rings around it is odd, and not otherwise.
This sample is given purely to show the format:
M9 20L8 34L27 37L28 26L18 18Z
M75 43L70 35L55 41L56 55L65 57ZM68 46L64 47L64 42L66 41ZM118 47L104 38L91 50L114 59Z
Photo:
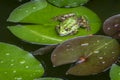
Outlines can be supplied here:
M60 21L55 18L68 13L75 13L78 17L85 16L89 22L90 30L79 28L79 31L74 35L59 36L56 26ZM8 29L24 41L47 45L58 44L77 36L95 34L101 26L99 17L86 7L58 8L48 4L45 0L33 0L21 5L10 14L8 21L32 23L31 25L9 26Z

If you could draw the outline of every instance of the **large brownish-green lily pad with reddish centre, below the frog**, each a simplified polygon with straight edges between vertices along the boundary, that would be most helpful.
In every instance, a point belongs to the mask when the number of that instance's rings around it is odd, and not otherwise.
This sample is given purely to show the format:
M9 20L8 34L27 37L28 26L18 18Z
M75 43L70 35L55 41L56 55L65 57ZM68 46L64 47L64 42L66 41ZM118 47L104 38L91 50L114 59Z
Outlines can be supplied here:
M66 74L92 75L109 68L120 55L120 45L102 35L78 37L60 44L52 53L53 66L75 63Z

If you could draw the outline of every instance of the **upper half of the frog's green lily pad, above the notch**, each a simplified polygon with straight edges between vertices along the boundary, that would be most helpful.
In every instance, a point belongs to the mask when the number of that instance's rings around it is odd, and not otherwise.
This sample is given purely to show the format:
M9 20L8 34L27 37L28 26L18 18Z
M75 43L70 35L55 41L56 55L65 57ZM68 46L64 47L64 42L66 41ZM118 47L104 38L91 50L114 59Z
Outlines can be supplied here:
M46 3L45 0L33 0L17 7L11 12L7 21L50 25L58 23L54 20L55 17L68 13L75 13L78 17L86 16L91 26L99 27L101 23L99 17L86 7L58 8Z

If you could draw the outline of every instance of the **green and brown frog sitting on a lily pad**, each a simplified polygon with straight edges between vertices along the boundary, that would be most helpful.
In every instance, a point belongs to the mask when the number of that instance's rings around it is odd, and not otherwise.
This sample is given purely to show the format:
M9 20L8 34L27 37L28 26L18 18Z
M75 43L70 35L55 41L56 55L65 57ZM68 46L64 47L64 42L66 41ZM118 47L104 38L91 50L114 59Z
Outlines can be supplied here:
M77 17L75 13L58 16L56 20L60 22L59 25L56 26L56 30L60 36L76 34L80 27L90 30L86 17Z

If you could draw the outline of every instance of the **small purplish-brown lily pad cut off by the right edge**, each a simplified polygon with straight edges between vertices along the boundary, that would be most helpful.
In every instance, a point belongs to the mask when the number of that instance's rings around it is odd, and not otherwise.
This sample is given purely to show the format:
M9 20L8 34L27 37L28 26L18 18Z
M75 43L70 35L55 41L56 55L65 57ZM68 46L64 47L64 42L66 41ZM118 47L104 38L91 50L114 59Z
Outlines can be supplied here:
M105 34L120 39L120 14L109 17L103 25Z

